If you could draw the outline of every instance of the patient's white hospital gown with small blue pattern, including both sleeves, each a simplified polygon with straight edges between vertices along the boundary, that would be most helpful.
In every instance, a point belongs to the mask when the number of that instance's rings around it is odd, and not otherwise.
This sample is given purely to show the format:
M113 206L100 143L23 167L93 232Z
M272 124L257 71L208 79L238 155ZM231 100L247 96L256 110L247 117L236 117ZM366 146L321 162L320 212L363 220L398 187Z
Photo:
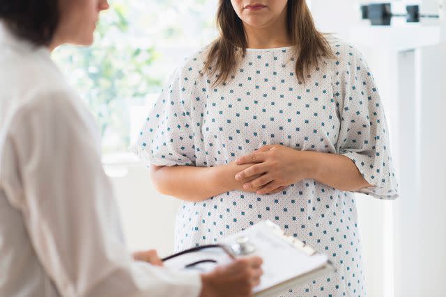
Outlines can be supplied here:
M231 80L213 86L203 73L206 48L172 75L133 147L158 166L220 166L263 145L343 154L372 188L360 193L398 197L383 106L361 54L330 38L324 58L304 82L295 75L293 48L247 49ZM312 179L282 193L231 191L183 202L175 249L213 243L259 220L324 252L337 272L290 288L282 296L365 296L353 193Z

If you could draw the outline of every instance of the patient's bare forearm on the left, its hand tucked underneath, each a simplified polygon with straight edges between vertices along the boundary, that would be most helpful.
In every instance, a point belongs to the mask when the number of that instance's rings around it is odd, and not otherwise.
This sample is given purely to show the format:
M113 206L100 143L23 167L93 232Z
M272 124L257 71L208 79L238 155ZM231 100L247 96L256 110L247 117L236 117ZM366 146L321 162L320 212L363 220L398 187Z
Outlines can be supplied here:
M228 191L255 192L258 188L243 190L243 184L259 177L235 179L236 173L254 164L238 165L236 162L217 167L151 166L151 179L158 192L180 200L199 202ZM283 188L273 189L281 191ZM274 193L273 191L272 193Z

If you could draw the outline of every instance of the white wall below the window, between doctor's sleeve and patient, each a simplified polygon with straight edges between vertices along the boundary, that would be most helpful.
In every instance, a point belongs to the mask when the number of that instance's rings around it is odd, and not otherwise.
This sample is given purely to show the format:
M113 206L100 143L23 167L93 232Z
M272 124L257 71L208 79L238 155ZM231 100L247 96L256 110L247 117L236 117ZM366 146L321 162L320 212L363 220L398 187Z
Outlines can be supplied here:
M161 256L174 248L174 221L180 202L160 195L141 165L105 166L112 177L129 250L155 248Z

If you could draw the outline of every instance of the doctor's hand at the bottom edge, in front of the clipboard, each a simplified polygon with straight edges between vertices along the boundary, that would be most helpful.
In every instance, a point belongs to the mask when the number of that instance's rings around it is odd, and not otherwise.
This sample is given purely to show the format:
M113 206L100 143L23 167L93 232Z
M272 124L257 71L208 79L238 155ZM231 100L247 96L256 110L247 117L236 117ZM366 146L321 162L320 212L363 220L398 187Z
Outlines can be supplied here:
M260 257L236 259L227 266L201 275L200 297L249 297L252 289L260 283L263 271Z

